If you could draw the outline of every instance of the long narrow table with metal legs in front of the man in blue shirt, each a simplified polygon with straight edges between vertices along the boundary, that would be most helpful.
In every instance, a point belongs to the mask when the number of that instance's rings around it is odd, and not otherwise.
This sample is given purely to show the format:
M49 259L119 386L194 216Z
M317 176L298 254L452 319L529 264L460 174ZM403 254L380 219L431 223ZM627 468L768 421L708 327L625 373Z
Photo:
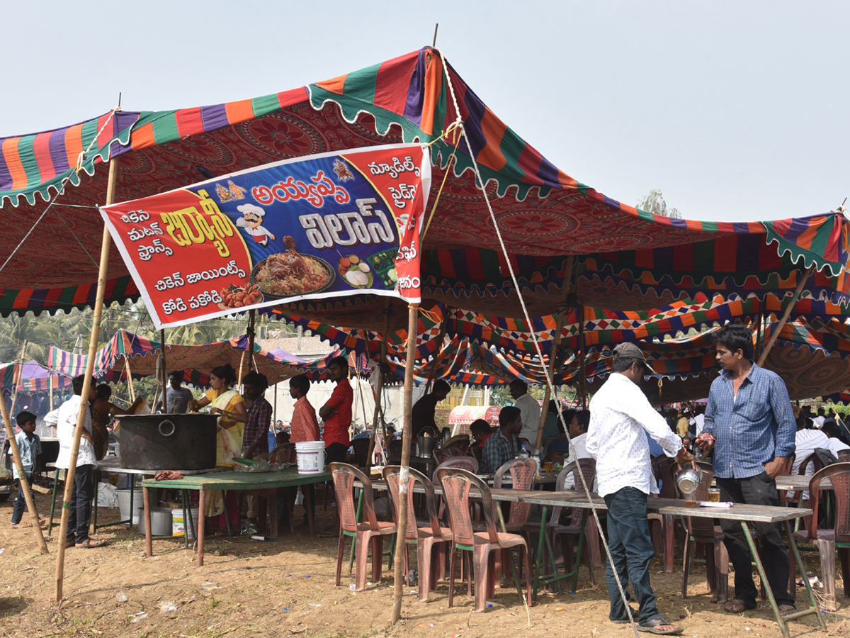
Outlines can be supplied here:
M808 483L807 483L808 485ZM372 487L376 489L387 489L384 481L372 481ZM443 490L439 485L434 485L434 493L442 495ZM421 488L416 488L416 491L420 491ZM575 556L575 569L567 574L561 574L559 576L554 576L553 578L546 578L542 580L543 584L555 583L559 580L564 580L565 578L573 579L573 591L575 591L575 587L578 584L578 572L579 567L581 566L581 551L584 545L584 530L585 523L587 521L588 512L591 510L599 510L599 511L607 511L608 506L605 504L605 501L602 497L598 496L596 493L592 493L591 501L588 502L587 498L581 492L575 492L573 490L564 490L562 492L540 492L538 490L513 490L513 489L490 489L490 495L493 500L496 501L507 501L508 503L528 503L534 505L540 505L542 508L541 513L541 533L540 538L537 542L537 555L535 559L535 574L534 574L534 599L537 596L538 586L541 584L541 556L543 554L543 544L545 542L546 534L544 530L546 528L546 519L548 515L548 508L550 507L577 507L584 510L584 516L581 521L581 531L579 533L579 542L576 547L576 556ZM479 496L476 490L470 491L470 496ZM498 508L496 508L498 510ZM794 542L794 536L791 533L791 525L789 521L793 521L798 518L802 518L805 516L812 516L812 510L808 510L806 508L791 508L791 507L773 507L770 505L750 505L743 503L736 503L729 508L719 508L719 507L701 507L700 505L687 505L685 501L679 500L677 498L649 498L647 510L650 513L657 513L662 516L694 516L694 517L702 517L702 518L717 518L717 519L728 519L732 521L739 521L741 527L744 529L744 534L747 539L747 544L750 545L750 551L753 557L753 561L756 563L756 570L758 572L759 577L762 578L763 583L768 582L768 577L764 572L764 567L762 566L762 560L758 555L756 550L756 545L752 538L752 533L750 531L750 526L748 523L753 522L762 522L762 523L782 523L785 526L785 533L788 536L788 542L791 546L791 552L794 555L794 559L796 561L797 567L800 569L802 574L806 573L806 567L802 563L802 558L800 556L800 551L797 550L796 543ZM807 616L808 614L814 614L816 618L818 618L818 623L821 627L825 628L826 624L824 618L819 613L818 603L815 601L814 594L812 591L812 586L808 583L808 578L803 578L803 582L806 584L806 591L808 592L808 600L810 607L791 614L791 616L787 616L782 618L779 615L779 607L776 605L776 600L774 599L774 592L770 589L770 587L765 587L765 592L768 595L768 602L770 603L770 607L774 610L774 616L776 617L776 622L779 624L779 628L782 629L782 635L785 638L791 638L791 633L788 630L787 621L794 620L796 618L801 618L802 616Z

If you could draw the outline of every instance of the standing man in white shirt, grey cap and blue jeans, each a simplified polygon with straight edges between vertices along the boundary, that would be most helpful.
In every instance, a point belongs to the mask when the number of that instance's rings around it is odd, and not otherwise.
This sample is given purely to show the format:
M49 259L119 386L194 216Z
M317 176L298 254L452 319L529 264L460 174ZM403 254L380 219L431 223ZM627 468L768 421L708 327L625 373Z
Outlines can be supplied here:
M598 493L608 505L608 544L614 562L613 566L609 562L605 570L611 601L609 619L629 622L614 578L616 569L624 591L631 577L632 590L640 604L638 629L681 633L683 629L668 623L655 607L655 593L649 584L649 562L655 550L649 537L647 497L657 493L658 486L652 476L644 432L660 443L666 456L676 457L680 465L694 457L682 446L682 437L655 412L638 387L647 368L637 345L626 343L614 349L613 372L590 402L587 452L596 459Z

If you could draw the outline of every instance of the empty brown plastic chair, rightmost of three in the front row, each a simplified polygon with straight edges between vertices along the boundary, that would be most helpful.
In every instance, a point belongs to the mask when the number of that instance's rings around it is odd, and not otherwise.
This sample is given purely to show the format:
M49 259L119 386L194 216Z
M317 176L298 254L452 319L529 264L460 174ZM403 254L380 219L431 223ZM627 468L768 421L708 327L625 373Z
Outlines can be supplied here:
M439 481L443 486L446 503L449 508L449 521L452 533L451 565L449 567L449 607L452 606L455 595L455 571L457 565L457 551L469 551L473 554L473 572L475 574L475 611L483 612L485 601L493 596L496 590L496 557L504 549L513 547L525 550L525 572L526 595L529 604L531 601L531 566L529 558L529 547L520 534L501 533L496 531L496 521L493 517L493 499L490 495L490 487L467 470L456 468L442 468L439 470ZM487 524L485 532L473 530L472 516L469 513L470 491L476 490L480 493L481 510L484 513L484 521ZM513 561L511 561L513 565ZM519 584L519 576L513 572L517 583L517 590L522 597L522 587ZM471 586L471 583L467 585Z

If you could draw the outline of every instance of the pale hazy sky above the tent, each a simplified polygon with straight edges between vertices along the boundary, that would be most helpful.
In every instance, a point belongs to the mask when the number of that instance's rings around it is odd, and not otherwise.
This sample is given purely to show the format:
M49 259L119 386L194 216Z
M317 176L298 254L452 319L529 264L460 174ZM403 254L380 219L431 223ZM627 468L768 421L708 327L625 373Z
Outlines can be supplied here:
M850 195L850 3L3 0L0 135L275 93L437 45L575 179L689 219Z

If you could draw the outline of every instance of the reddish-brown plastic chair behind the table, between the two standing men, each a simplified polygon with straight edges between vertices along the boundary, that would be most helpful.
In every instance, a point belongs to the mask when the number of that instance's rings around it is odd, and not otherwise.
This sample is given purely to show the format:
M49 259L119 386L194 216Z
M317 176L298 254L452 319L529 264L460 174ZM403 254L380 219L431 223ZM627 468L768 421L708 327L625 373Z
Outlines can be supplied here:
M700 467L700 485L694 492L697 501L708 500L708 488L714 479L711 464L698 463ZM715 525L711 517L688 516L685 518L685 544L682 562L682 597L688 597L688 577L694 563L694 549L703 545L706 547L706 580L708 590L717 592L717 602L728 599L729 590L729 555L726 544L723 543L723 530ZM709 550L707 545L712 545Z

